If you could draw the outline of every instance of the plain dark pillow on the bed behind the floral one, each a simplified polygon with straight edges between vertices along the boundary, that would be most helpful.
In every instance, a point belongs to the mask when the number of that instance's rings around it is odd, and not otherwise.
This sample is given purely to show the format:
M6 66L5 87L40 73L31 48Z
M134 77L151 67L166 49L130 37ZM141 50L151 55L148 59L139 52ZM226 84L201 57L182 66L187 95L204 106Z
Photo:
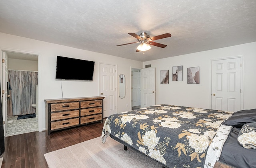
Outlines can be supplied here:
M256 122L256 109L247 109L233 113L223 124L241 128L244 124L253 122Z

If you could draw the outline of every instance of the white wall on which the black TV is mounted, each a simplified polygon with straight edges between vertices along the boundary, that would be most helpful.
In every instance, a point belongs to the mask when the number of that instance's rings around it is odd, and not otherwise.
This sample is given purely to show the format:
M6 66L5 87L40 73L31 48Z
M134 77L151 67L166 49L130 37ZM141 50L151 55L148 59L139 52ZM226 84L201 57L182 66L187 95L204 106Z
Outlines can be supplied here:
M126 78L126 93L130 93L130 66L142 68L142 62L134 61L130 59L123 59L120 57L114 57L111 55L95 53L92 51L86 51L82 49L75 49L72 47L66 47L63 45L56 45L53 43L46 43L34 39L28 39L24 37L18 37L5 33L0 33L0 49L13 49L15 51L24 51L25 53L38 53L38 62L42 64L42 78L38 81L42 81L41 93L39 89L39 101L42 106L39 109L39 113L42 114L42 129L45 129L45 99L62 98L62 91L60 86L60 80L55 80L56 70L56 56L70 57L76 59L84 59L89 61L95 61L93 81L71 81L62 80L62 90L64 98L78 98L88 96L100 96L100 78L99 70L100 63L115 64L117 65L117 86L119 74L124 74ZM40 60L40 57L42 60ZM40 71L40 66L38 71ZM38 72L38 75L40 73ZM39 77L39 76L38 76ZM130 94L126 94L124 99L120 99L118 96L117 88L117 108L118 112L130 110L131 98ZM39 103L40 104L40 103ZM128 107L126 107L128 104ZM40 116L40 115L39 115ZM38 122L40 123L40 121Z

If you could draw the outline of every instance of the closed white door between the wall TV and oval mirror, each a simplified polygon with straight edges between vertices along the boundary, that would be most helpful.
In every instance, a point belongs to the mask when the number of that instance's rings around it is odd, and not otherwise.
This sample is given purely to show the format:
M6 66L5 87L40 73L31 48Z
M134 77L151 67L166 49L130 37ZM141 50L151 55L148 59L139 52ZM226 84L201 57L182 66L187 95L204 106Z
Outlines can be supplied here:
M100 96L103 100L103 117L116 113L116 66L100 64Z

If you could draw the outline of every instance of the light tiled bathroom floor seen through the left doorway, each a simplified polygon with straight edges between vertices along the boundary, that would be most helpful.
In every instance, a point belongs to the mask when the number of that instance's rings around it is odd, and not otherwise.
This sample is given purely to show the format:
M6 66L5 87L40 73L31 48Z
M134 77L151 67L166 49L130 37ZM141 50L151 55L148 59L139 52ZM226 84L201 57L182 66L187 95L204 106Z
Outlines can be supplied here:
M18 115L8 116L6 137L38 131L38 117L17 119Z

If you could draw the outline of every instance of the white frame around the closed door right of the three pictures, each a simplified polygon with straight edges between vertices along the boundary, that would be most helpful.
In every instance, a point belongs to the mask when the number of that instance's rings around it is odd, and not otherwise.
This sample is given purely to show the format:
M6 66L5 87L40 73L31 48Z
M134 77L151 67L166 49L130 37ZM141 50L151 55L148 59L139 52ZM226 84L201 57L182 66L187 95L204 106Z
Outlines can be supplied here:
M236 59L240 58L241 60L241 110L244 109L244 55L240 56L234 56L234 57L224 57L224 58L218 58L218 59L210 59L210 109L212 109L212 62L218 61L218 60L224 60L224 59Z

